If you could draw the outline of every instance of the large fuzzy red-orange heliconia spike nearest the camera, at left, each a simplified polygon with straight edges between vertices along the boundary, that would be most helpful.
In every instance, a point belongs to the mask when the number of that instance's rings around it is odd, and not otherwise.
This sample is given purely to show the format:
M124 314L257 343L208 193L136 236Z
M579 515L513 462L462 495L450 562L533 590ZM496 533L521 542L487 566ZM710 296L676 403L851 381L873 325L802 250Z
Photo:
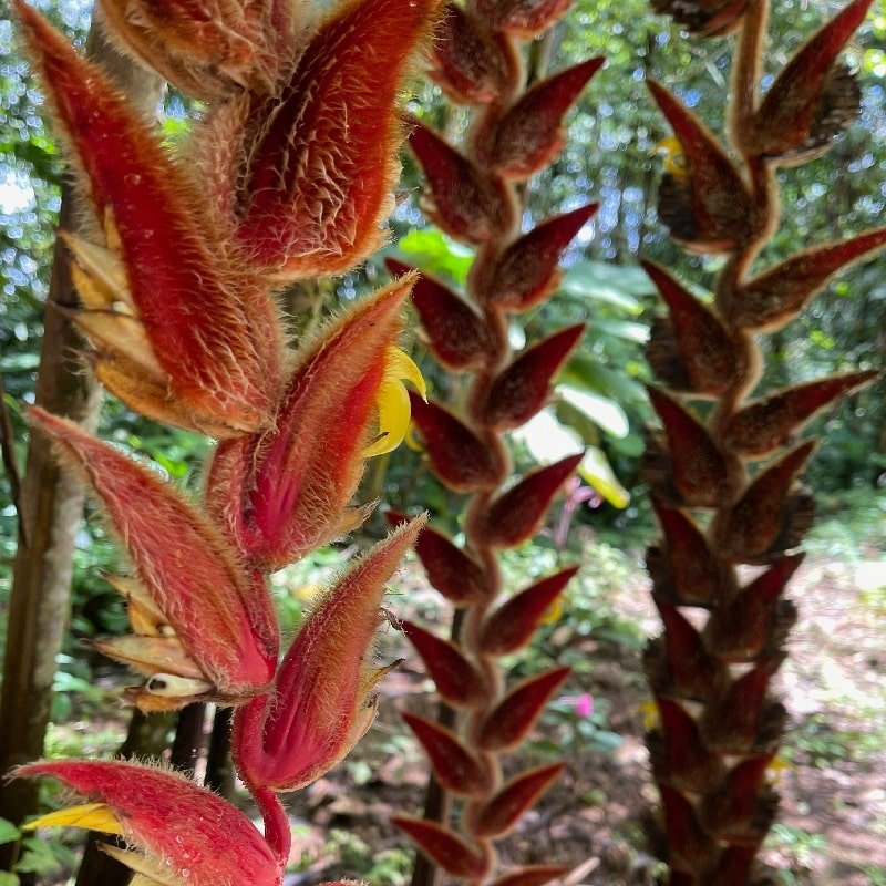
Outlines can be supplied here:
M131 409L220 442L202 501L69 421L34 433L86 481L131 571L111 581L132 635L95 647L142 674L141 710L233 705L233 755L264 835L183 775L122 761L21 766L85 803L30 827L122 836L140 884L279 886L289 824L278 793L318 779L375 715L371 663L385 583L423 517L354 560L288 651L267 576L358 526L365 461L403 440L398 348L414 275L289 347L288 281L352 268L385 237L403 138L403 79L439 0L349 0L310 17L292 0L101 0L120 49L206 103L175 151L23 0L13 0L87 208L66 234L99 379Z

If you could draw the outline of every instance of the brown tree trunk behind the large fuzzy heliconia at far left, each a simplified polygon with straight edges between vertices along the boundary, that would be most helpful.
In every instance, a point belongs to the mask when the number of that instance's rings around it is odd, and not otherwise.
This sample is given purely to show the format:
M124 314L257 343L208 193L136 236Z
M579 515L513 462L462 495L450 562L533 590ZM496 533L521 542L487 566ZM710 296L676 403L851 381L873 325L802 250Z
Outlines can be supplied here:
M146 113L156 109L163 82L113 50L93 28L89 54L101 60L121 89ZM73 230L78 207L72 188L63 189L60 229ZM37 382L37 402L59 415L94 424L99 395L71 322L54 306L78 307L71 284L70 256L55 246L44 334ZM3 689L0 697L0 773L39 758L49 722L55 657L68 624L74 533L83 490L71 472L61 471L45 440L33 437L22 487L27 532L20 533L9 605ZM0 817L21 822L37 810L38 786L31 781L0 780ZM0 869L9 865L14 844L0 847Z

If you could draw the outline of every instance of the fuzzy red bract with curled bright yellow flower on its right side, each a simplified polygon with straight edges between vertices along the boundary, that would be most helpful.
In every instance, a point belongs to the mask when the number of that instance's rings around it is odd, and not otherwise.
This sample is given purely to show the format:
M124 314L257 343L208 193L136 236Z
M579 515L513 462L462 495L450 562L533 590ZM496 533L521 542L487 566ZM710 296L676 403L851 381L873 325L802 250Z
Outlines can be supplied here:
M395 344L413 280L401 278L321 330L296 358L274 429L217 449L209 512L255 568L278 569L371 511L348 507L365 460L406 433L403 379L424 394L418 368Z

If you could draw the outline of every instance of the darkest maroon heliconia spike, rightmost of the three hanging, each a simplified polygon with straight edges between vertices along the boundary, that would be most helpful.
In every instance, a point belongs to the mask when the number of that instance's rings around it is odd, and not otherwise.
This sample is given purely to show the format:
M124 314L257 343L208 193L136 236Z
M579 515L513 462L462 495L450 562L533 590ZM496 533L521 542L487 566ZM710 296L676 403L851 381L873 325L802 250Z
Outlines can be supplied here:
M671 886L770 882L755 859L777 812L767 773L786 721L771 683L797 615L784 597L802 560L792 552L813 519L800 475L815 443L796 435L877 372L749 399L763 367L754 336L781 328L832 275L886 245L886 228L753 265L779 222L775 171L825 151L858 111L839 53L870 2L854 0L811 37L762 99L769 0L652 3L694 34L735 32L738 41L731 150L677 95L649 83L679 158L667 164L659 216L684 249L725 259L710 301L645 265L668 308L648 351L661 431L650 436L645 473L662 537L647 567L663 633L645 664L658 709L648 738L661 794L653 848ZM710 410L692 406L698 400L712 401Z

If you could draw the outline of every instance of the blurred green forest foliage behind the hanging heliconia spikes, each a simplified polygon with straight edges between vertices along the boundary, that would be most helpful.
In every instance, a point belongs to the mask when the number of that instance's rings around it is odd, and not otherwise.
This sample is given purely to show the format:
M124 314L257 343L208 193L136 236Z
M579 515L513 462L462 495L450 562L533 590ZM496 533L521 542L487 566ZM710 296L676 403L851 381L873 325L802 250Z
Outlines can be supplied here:
M39 6L82 43L89 25L90 3ZM825 0L775 3L771 25L773 44L786 58L814 27L839 7ZM668 132L643 81L655 76L678 89L690 107L702 113L714 128L720 128L722 121L712 115L722 107L720 96L727 89L730 43L686 39L669 21L653 16L642 0L580 0L552 37L535 50L538 63L549 70L589 55L604 54L608 60L569 116L569 141L565 151L548 171L533 179L527 194L527 213L534 218L576 208L589 199L600 202L599 213L567 256L569 269L560 293L530 313L525 324L525 334L537 339L564 322L588 322L581 348L562 378L554 421L567 429L567 433L579 436L585 445L594 447L598 460L598 490L594 495L581 495L574 490L573 497L555 513L548 532L514 555L523 564L528 563L534 571L540 571L543 564L559 559L564 563L580 560L585 566L580 587L573 593L559 621L543 632L534 647L534 655L542 658L547 655L546 648L554 643L574 647L580 663L575 686L569 687L569 694L554 705L543 724L536 752L544 754L545 741L562 744L568 740L573 744L570 750L594 755L586 760L595 761L595 765L605 770L609 764L601 761L619 753L624 758L626 746L631 746L625 733L638 723L642 729L642 690L638 680L631 682L630 679L605 687L600 674L612 661L622 662L629 676L631 667L637 673L642 637L653 630L646 610L637 605L638 599L646 600L648 595L636 564L641 556L639 552L653 533L648 497L638 481L638 466L643 429L651 416L642 388L642 382L650 379L642 346L657 309L657 297L638 269L638 257L682 268L688 271L688 279L700 282L710 280L719 267L714 259L687 257L680 253L667 239L664 228L656 218L657 181L662 162L668 159L661 156L667 154L667 146L661 147L660 143ZM875 4L868 25L849 47L848 56L858 71L862 113L828 153L813 163L779 173L784 204L791 210L765 255L767 262L804 245L847 237L882 224L886 205L886 10L883 6ZM464 125L460 113L447 112L437 90L421 80L412 86L409 105L416 115L451 133L460 132ZM189 100L169 92L162 112L167 137L183 137L189 116L198 111ZM20 54L11 23L2 19L0 377L19 464L23 463L27 445L21 404L33 398L54 225L64 176L58 146L40 113L39 92L29 65ZM410 199L401 204L394 216L391 246L384 255L398 255L444 278L463 281L470 254L433 228L425 227L426 222L414 199L419 176L408 158L401 189ZM886 363L884 262L886 259L879 258L842 275L802 318L769 337L769 371L762 392L833 372ZM308 329L330 310L359 298L384 275L382 256L374 257L358 274L328 281L311 291L293 288L286 293L287 311L293 324L300 330ZM450 382L434 370L430 360L422 359L420 342L414 343L412 351L431 389L446 399ZM870 625L886 615L886 560L882 552L886 528L885 393L886 382L879 381L816 420L812 433L825 439L826 445L816 454L807 475L821 517L811 542L813 567L806 573L804 587L814 584L810 576L823 576L825 581L817 587L831 590L838 587L841 601L858 607L856 615L868 619ZM161 429L110 398L102 410L100 433L151 459L185 485L198 482L205 441L197 435ZM535 433L522 435L515 441L518 463L521 453L527 452L537 459L557 457L557 452L546 453L553 440L550 423L536 427ZM608 476L606 465L611 468L612 476ZM421 453L402 447L392 456L375 461L361 495L367 501L380 498L399 509L421 503L443 525L447 515L459 511L453 494L423 467ZM6 636L3 621L17 540L12 502L10 475L3 472L0 474L0 637ZM454 525L449 528L457 530ZM373 518L364 530L381 535L381 517ZM290 629L298 624L311 588L326 571L341 563L343 554L347 552L332 548L300 565L296 574L280 577L278 602ZM76 536L71 630L58 660L48 743L50 754L111 755L125 734L126 718L112 701L112 688L120 682L119 672L78 643L80 639L123 630L122 607L100 577L103 571L113 570L115 557L115 549L101 525L87 519ZM864 564L866 571L859 570L858 564ZM830 585L828 577L833 579ZM401 602L406 608L429 605L427 598L422 597L418 574L408 577L405 584L414 593L409 599L406 595L396 598L398 606ZM812 606L814 611L814 600ZM398 614L405 612L398 610ZM801 619L805 615L802 611ZM800 632L802 636L802 628ZM880 656L882 661L883 641L870 642L870 656ZM876 660L872 662L870 656L865 674L876 672ZM847 690L843 699L832 699L832 704L839 708L842 703L866 727L842 728L838 722L823 717L814 705L800 705L804 714L801 719L794 718L795 734L789 739L794 751L792 760L789 754L789 763L839 769L852 762L876 770L878 754L882 754L879 749L886 738L883 708L876 702L877 682L865 693L862 690L866 680L856 676L853 689L859 691ZM402 682L402 691L409 692L410 681L404 678ZM802 681L793 689L795 693L802 692ZM882 681L879 689L883 690ZM594 701L590 711L587 703L580 707L573 701L586 696ZM375 742L371 752L364 752L365 756L358 752L342 776L350 780L349 784L360 786L372 782L378 754L390 756L393 752L406 761L412 754L413 760L419 760L414 750L409 750L405 730L396 734L393 713L383 720L390 730L387 744ZM640 773L639 781L642 781L643 765L641 759L633 761ZM405 781L409 781L408 775ZM334 787L330 790L336 791ZM412 790L418 793L418 789ZM570 790L580 795L585 806L595 806L604 802L600 794L607 794L608 787L605 783L590 786L573 783ZM641 796L642 787L638 791ZM347 793L339 789L340 795ZM353 792L351 795L356 796ZM875 796L874 801L880 803L883 811L884 797ZM574 813L581 803L573 805ZM635 805L641 804L640 800ZM323 804L318 801L318 805ZM341 824L358 817L359 811L339 810L327 815L324 821ZM814 820L814 815L811 817ZM315 852L318 837L310 828L323 824L323 816L306 813L306 822L313 839L313 843L306 842L307 870L318 854ZM782 827L776 833L776 839L781 841L776 848L787 859L784 882L814 882L810 878L825 866L812 856L826 856L828 846L816 839L820 835L812 824L793 825L793 831L791 825ZM370 838L371 831L362 837L360 833L360 827L350 836L343 831L330 836L326 831L322 839L332 844L331 849L324 849L326 856L341 859L350 853L363 859L360 862L362 874L371 883L402 883L408 859L401 857L405 856L405 851L391 848L395 838L384 837L377 844ZM616 843L614 839L612 845ZM636 833L628 833L626 843L637 853L641 852ZM370 848L370 844L382 848ZM35 873L48 878L63 878L65 865L71 863L65 844L53 845L42 861L40 852L34 844ZM638 857L630 863L635 868L641 866ZM886 883L883 862L872 859L865 865L859 861L855 869L867 877L868 883ZM615 880L610 877L609 882Z

